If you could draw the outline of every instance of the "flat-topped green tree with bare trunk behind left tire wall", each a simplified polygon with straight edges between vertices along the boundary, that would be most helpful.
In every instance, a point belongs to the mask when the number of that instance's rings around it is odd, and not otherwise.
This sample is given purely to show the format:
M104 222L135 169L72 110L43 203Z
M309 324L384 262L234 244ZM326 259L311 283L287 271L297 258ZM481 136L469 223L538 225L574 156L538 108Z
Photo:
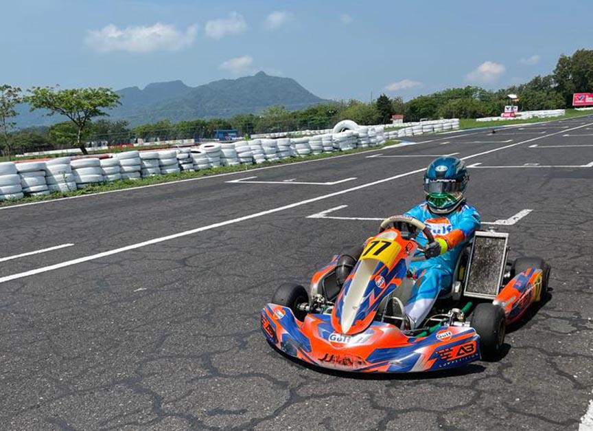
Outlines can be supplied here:
M47 109L48 115L64 115L77 128L76 144L83 154L87 154L82 142L84 128L92 118L108 115L102 109L115 108L119 104L119 94L110 88L80 88L56 90L52 87L33 87L26 101L31 110Z

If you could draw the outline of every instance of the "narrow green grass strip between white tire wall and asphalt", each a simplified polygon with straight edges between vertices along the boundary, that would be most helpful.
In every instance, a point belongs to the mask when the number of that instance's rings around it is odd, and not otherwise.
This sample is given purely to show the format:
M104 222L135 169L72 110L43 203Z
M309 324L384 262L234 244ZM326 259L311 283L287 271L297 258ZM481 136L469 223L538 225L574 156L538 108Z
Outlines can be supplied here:
M385 145L397 144L398 141L388 140ZM146 177L140 179L122 179L120 181L113 181L112 183L94 184L86 186L85 188L73 190L72 192L54 192L51 195L41 196L26 196L23 199L10 199L8 201L0 201L0 207L16 205L19 203L51 201L53 199L60 199L62 197L72 197L80 195L92 195L98 192L108 192L111 190L122 190L126 188L135 188L140 186L150 186L151 184L169 183L171 181L178 181L180 179L209 177L211 175L243 172L262 166L274 166L278 164L288 164L293 162L302 162L303 160L327 159L342 154L364 153L364 151L377 150L382 146L374 146L371 148L355 148L350 151L335 151L334 153L321 153L316 155L308 155L305 157L290 157L288 159L281 159L277 162L264 162L261 164L238 165L238 166L220 166L220 168L210 168L204 170L197 170L196 172L181 172L176 174L154 175L154 177Z

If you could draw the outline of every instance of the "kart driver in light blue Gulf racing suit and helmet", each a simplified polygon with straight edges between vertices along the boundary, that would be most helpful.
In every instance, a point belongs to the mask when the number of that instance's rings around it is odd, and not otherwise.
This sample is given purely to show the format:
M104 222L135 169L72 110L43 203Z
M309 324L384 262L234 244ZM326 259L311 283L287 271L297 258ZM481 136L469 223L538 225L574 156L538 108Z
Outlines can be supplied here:
M448 293L458 257L480 228L480 214L467 205L463 197L468 181L462 160L450 156L434 159L424 174L426 201L404 214L425 223L434 235L434 242L426 245L426 237L422 233L417 236L418 243L426 248L426 261L410 264L410 275L415 283L404 310L399 310L404 318L402 329L421 325L439 294ZM336 268L340 285L359 257L360 253L340 256ZM397 312L394 311L394 315Z

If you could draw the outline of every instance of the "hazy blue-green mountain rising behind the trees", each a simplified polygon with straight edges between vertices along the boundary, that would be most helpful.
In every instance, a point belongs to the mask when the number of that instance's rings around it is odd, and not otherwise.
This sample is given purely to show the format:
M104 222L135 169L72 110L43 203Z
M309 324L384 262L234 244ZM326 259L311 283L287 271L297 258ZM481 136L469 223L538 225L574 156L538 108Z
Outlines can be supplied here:
M181 80L154 82L144 89L127 87L118 90L121 105L109 111L111 120L128 120L130 126L158 120L194 120L229 118L240 113L259 113L272 105L286 109L304 109L326 102L307 91L292 78L269 76L263 71L254 76L223 79L198 87L188 87ZM44 117L20 107L19 127L49 125L65 120L59 115Z

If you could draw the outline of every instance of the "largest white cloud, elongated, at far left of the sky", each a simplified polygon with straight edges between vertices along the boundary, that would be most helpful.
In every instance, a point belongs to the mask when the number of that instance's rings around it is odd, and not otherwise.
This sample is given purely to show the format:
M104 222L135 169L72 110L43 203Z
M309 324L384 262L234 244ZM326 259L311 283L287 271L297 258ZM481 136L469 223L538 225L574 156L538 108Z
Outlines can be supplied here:
M100 52L128 51L143 54L152 51L178 51L190 47L197 32L197 25L191 25L183 32L174 25L161 23L124 29L109 24L101 30L90 30L86 35L86 45Z

